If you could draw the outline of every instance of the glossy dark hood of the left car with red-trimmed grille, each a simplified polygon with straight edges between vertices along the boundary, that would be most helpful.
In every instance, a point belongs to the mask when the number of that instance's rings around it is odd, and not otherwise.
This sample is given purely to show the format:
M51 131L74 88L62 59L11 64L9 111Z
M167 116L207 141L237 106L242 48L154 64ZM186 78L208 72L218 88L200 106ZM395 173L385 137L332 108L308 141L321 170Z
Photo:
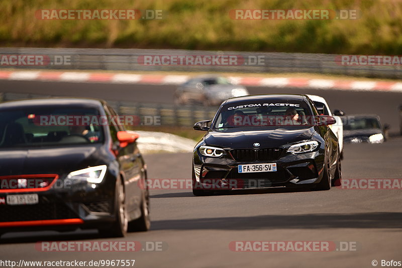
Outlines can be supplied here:
M59 174L100 165L103 146L71 146L0 150L0 176L21 174Z

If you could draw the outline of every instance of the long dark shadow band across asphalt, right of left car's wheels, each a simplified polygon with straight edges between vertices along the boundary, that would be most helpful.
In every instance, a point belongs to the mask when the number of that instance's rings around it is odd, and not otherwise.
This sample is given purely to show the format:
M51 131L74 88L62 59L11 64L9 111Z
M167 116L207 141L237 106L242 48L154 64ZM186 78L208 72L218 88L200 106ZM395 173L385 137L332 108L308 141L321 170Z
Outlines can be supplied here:
M152 230L258 230L389 228L402 229L402 213L261 215L153 221Z

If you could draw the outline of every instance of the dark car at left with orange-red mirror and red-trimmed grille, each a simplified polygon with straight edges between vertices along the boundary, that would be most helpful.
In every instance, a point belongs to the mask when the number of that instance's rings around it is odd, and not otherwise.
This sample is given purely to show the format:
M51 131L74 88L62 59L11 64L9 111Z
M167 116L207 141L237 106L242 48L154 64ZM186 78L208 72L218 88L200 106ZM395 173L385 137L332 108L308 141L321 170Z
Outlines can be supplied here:
M124 236L149 229L138 135L116 117L100 100L0 104L0 234L95 228Z

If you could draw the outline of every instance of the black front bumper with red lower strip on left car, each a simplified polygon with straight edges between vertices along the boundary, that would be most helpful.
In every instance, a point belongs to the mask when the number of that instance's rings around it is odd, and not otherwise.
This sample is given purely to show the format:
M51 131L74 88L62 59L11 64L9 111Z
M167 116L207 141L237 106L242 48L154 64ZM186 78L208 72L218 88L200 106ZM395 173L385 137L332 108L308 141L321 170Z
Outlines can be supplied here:
M107 173L100 184L58 180L47 191L0 191L0 233L30 230L107 228L115 221L116 177ZM38 203L9 205L8 195L37 194Z

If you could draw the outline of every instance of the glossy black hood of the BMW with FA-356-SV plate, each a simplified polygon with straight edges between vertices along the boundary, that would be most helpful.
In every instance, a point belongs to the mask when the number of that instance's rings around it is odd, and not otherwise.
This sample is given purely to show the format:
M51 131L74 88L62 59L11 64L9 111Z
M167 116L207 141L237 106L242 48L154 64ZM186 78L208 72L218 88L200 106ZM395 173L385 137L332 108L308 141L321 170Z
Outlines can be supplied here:
M294 126L272 127L264 130L229 128L222 131L208 132L204 141L207 145L225 148L252 148L254 143L259 143L259 148L269 148L309 140L314 132L314 127Z

